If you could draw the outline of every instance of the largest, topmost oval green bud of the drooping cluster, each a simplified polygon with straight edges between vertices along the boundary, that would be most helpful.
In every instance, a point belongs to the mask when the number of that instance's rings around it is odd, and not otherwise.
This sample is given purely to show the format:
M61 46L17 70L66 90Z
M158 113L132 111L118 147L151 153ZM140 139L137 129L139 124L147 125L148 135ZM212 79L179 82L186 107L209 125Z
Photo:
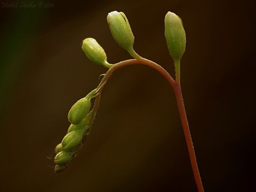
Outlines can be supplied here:
M68 114L69 122L78 125L88 114L91 107L90 98L82 98L78 100L70 109Z

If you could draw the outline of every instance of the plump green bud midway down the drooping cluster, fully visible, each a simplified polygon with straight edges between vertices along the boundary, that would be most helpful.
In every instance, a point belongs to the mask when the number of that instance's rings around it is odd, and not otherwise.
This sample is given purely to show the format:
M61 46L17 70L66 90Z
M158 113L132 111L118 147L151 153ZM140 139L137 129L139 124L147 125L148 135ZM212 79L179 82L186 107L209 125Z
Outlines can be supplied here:
M83 139L83 130L73 130L62 140L62 147L65 151L70 151L77 147Z

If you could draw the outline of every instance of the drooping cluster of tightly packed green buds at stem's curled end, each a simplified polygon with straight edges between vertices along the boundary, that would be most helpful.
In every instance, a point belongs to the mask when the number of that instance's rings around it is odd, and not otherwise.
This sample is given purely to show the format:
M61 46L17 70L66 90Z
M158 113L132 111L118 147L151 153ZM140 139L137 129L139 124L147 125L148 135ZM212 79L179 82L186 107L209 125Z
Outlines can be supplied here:
M56 165L54 171L56 173L66 168L81 148L83 137L89 133L90 126L94 120L93 111L90 111L90 100L95 96L96 92L96 89L92 90L86 97L73 104L69 111L68 119L71 125L62 142L55 147L56 156L54 162Z

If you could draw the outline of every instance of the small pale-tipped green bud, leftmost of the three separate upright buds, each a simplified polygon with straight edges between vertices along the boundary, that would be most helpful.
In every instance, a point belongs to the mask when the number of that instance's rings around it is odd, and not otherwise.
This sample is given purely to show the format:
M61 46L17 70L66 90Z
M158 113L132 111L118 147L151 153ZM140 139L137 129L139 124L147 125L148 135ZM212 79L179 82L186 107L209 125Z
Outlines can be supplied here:
M107 68L111 66L111 64L107 62L107 55L104 49L94 38L86 38L83 40L82 49L88 59L96 65L102 65Z

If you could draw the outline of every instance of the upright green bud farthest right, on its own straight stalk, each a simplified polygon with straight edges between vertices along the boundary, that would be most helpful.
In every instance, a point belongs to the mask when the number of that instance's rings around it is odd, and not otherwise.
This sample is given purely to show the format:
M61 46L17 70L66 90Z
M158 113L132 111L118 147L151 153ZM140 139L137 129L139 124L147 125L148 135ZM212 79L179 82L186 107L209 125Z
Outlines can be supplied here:
M165 38L173 60L180 60L186 48L186 34L178 15L168 12L164 19Z

